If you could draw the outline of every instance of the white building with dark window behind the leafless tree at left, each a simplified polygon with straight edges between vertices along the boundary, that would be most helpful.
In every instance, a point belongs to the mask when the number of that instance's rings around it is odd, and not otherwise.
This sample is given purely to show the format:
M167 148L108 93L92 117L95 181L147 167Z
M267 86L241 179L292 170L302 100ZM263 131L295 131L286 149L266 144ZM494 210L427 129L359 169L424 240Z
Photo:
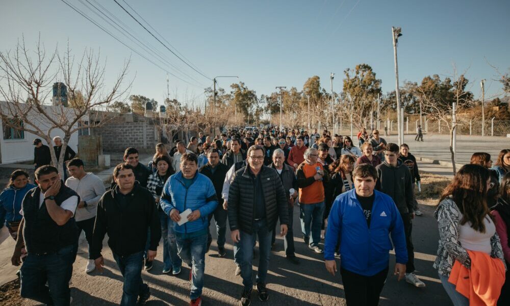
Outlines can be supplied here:
M6 102L0 101L0 107L4 110L4 114L7 114L5 111ZM45 108L52 108L51 106L45 106ZM57 110L60 110L58 107ZM51 110L50 110L51 111ZM56 113L58 113L57 111ZM69 112L69 115L72 112ZM45 127L46 125L50 125L49 122L44 122L44 118L34 112L33 115L29 115L29 120L31 122L40 121L38 124L39 129L43 131L44 134L47 133L49 127ZM45 119L47 120L47 119ZM53 146L52 144L46 143L44 139L39 136L33 135L31 133L25 131L17 131L12 129L10 126L4 124L2 118L0 118L0 123L2 124L2 137L0 138L0 164L10 164L17 162L25 162L25 161L33 161L34 160L34 145L33 141L35 138L40 138L42 143L47 146ZM51 133L52 138L55 136L64 137L64 133L60 129L55 129ZM69 139L69 145L75 152L78 152L78 132L73 133L71 138Z

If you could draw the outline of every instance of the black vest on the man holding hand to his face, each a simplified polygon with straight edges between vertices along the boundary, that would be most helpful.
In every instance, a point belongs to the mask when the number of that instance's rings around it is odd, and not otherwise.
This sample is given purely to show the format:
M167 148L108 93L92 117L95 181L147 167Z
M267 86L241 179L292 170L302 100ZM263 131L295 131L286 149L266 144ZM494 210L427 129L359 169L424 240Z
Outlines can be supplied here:
M78 227L74 217L70 218L66 224L58 225L49 216L46 202L43 202L39 208L40 194L39 187L30 190L23 198L21 206L25 219L23 238L27 252L56 252L65 246L78 243ZM80 202L80 196L62 183L59 193L55 196L55 202L61 206L62 202L71 196L78 196L78 202Z

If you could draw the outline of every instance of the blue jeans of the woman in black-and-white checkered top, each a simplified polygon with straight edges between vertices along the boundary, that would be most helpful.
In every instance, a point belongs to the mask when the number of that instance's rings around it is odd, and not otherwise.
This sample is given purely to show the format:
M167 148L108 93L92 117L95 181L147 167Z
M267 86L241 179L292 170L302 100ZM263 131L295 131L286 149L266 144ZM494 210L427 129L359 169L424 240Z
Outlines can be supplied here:
M163 237L163 270L181 267L183 261L177 255L175 243L174 222L165 212L160 211L161 237Z

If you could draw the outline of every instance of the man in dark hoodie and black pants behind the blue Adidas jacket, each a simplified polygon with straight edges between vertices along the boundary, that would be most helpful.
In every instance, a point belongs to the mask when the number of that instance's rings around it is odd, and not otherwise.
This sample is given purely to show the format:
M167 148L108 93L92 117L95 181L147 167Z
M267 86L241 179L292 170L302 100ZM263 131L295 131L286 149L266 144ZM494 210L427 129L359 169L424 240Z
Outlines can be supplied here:
M411 234L414 219L414 191L411 172L405 164L398 160L399 147L395 143L388 143L385 147L385 161L375 167L379 179L376 188L389 195L397 206L404 222L405 244L407 247L407 264L405 265L405 281L415 287L425 287L414 274L414 246Z

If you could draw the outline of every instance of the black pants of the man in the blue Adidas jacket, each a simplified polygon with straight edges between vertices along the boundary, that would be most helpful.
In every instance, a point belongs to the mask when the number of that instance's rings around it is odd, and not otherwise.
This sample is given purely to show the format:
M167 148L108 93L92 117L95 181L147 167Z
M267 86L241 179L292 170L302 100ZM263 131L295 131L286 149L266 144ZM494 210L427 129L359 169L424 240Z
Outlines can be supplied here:
M372 276L364 276L340 268L347 306L377 306L388 276L388 267Z

